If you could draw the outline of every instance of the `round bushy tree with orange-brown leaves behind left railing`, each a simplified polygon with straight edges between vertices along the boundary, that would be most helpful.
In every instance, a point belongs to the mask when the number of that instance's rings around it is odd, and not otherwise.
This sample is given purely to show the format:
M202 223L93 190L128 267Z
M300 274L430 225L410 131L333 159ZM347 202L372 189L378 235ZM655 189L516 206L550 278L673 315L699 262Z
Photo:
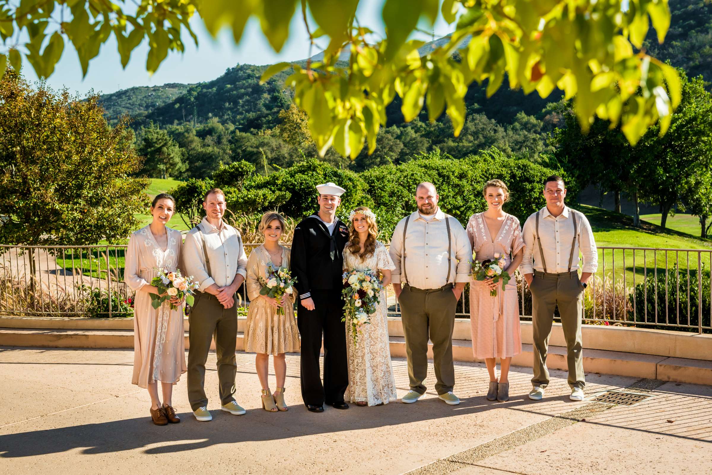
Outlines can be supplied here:
M98 97L0 80L0 242L88 245L123 239L150 181L125 121L110 129Z

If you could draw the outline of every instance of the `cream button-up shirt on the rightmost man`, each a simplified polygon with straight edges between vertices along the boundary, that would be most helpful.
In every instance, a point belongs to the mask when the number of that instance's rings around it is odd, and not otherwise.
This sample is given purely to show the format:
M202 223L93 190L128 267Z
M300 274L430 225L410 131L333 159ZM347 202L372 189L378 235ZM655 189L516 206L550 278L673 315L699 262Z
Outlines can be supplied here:
M560 274L569 271L571 245L574 245L574 257L571 270L579 268L579 252L583 255L581 272L596 272L598 268L598 252L593 239L591 225L582 213L576 214L577 239L574 241L574 222L571 218L573 210L564 207L563 213L554 217L544 207L539 214L539 237L546 261L546 272ZM544 272L544 262L539 252L536 239L536 214L529 216L522 228L524 238L524 257L520 266L523 274L532 274L534 270ZM533 261L533 262L532 262Z

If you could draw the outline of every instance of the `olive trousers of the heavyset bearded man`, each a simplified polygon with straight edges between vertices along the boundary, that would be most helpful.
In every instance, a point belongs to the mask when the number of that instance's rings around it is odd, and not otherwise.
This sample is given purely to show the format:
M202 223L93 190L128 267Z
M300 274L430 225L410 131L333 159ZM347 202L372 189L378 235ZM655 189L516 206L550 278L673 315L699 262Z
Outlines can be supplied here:
M398 298L408 357L410 388L424 394L423 384L428 375L428 338L433 342L435 390L448 393L455 385L452 361L452 331L455 327L457 299L452 284L441 289L421 290L403 286Z

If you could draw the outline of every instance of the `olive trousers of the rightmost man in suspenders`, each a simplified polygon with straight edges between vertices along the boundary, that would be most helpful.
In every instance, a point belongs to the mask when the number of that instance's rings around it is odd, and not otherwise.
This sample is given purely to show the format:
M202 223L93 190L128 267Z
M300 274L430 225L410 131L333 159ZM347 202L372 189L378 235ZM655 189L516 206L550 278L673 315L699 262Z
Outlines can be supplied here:
M545 388L549 384L546 356L549 348L554 310L559 307L561 326L566 340L566 361L569 368L568 383L571 388L583 389L581 308L584 287L578 272L552 274L534 271L530 285L533 304L534 377L532 385Z

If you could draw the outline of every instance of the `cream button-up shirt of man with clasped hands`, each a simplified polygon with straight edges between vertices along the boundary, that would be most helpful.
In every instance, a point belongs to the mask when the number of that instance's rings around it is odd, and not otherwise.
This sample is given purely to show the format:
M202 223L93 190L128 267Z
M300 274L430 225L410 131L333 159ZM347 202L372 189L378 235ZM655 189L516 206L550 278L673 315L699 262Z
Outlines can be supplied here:
M203 230L199 232L198 226ZM185 237L183 245L183 274L192 275L199 282L200 292L211 284L225 287L232 284L236 274L242 277L247 275L247 255L242 245L242 237L238 230L222 222L218 229L211 225L207 218L190 230ZM203 238L208 252L210 269L205 264L203 252Z

